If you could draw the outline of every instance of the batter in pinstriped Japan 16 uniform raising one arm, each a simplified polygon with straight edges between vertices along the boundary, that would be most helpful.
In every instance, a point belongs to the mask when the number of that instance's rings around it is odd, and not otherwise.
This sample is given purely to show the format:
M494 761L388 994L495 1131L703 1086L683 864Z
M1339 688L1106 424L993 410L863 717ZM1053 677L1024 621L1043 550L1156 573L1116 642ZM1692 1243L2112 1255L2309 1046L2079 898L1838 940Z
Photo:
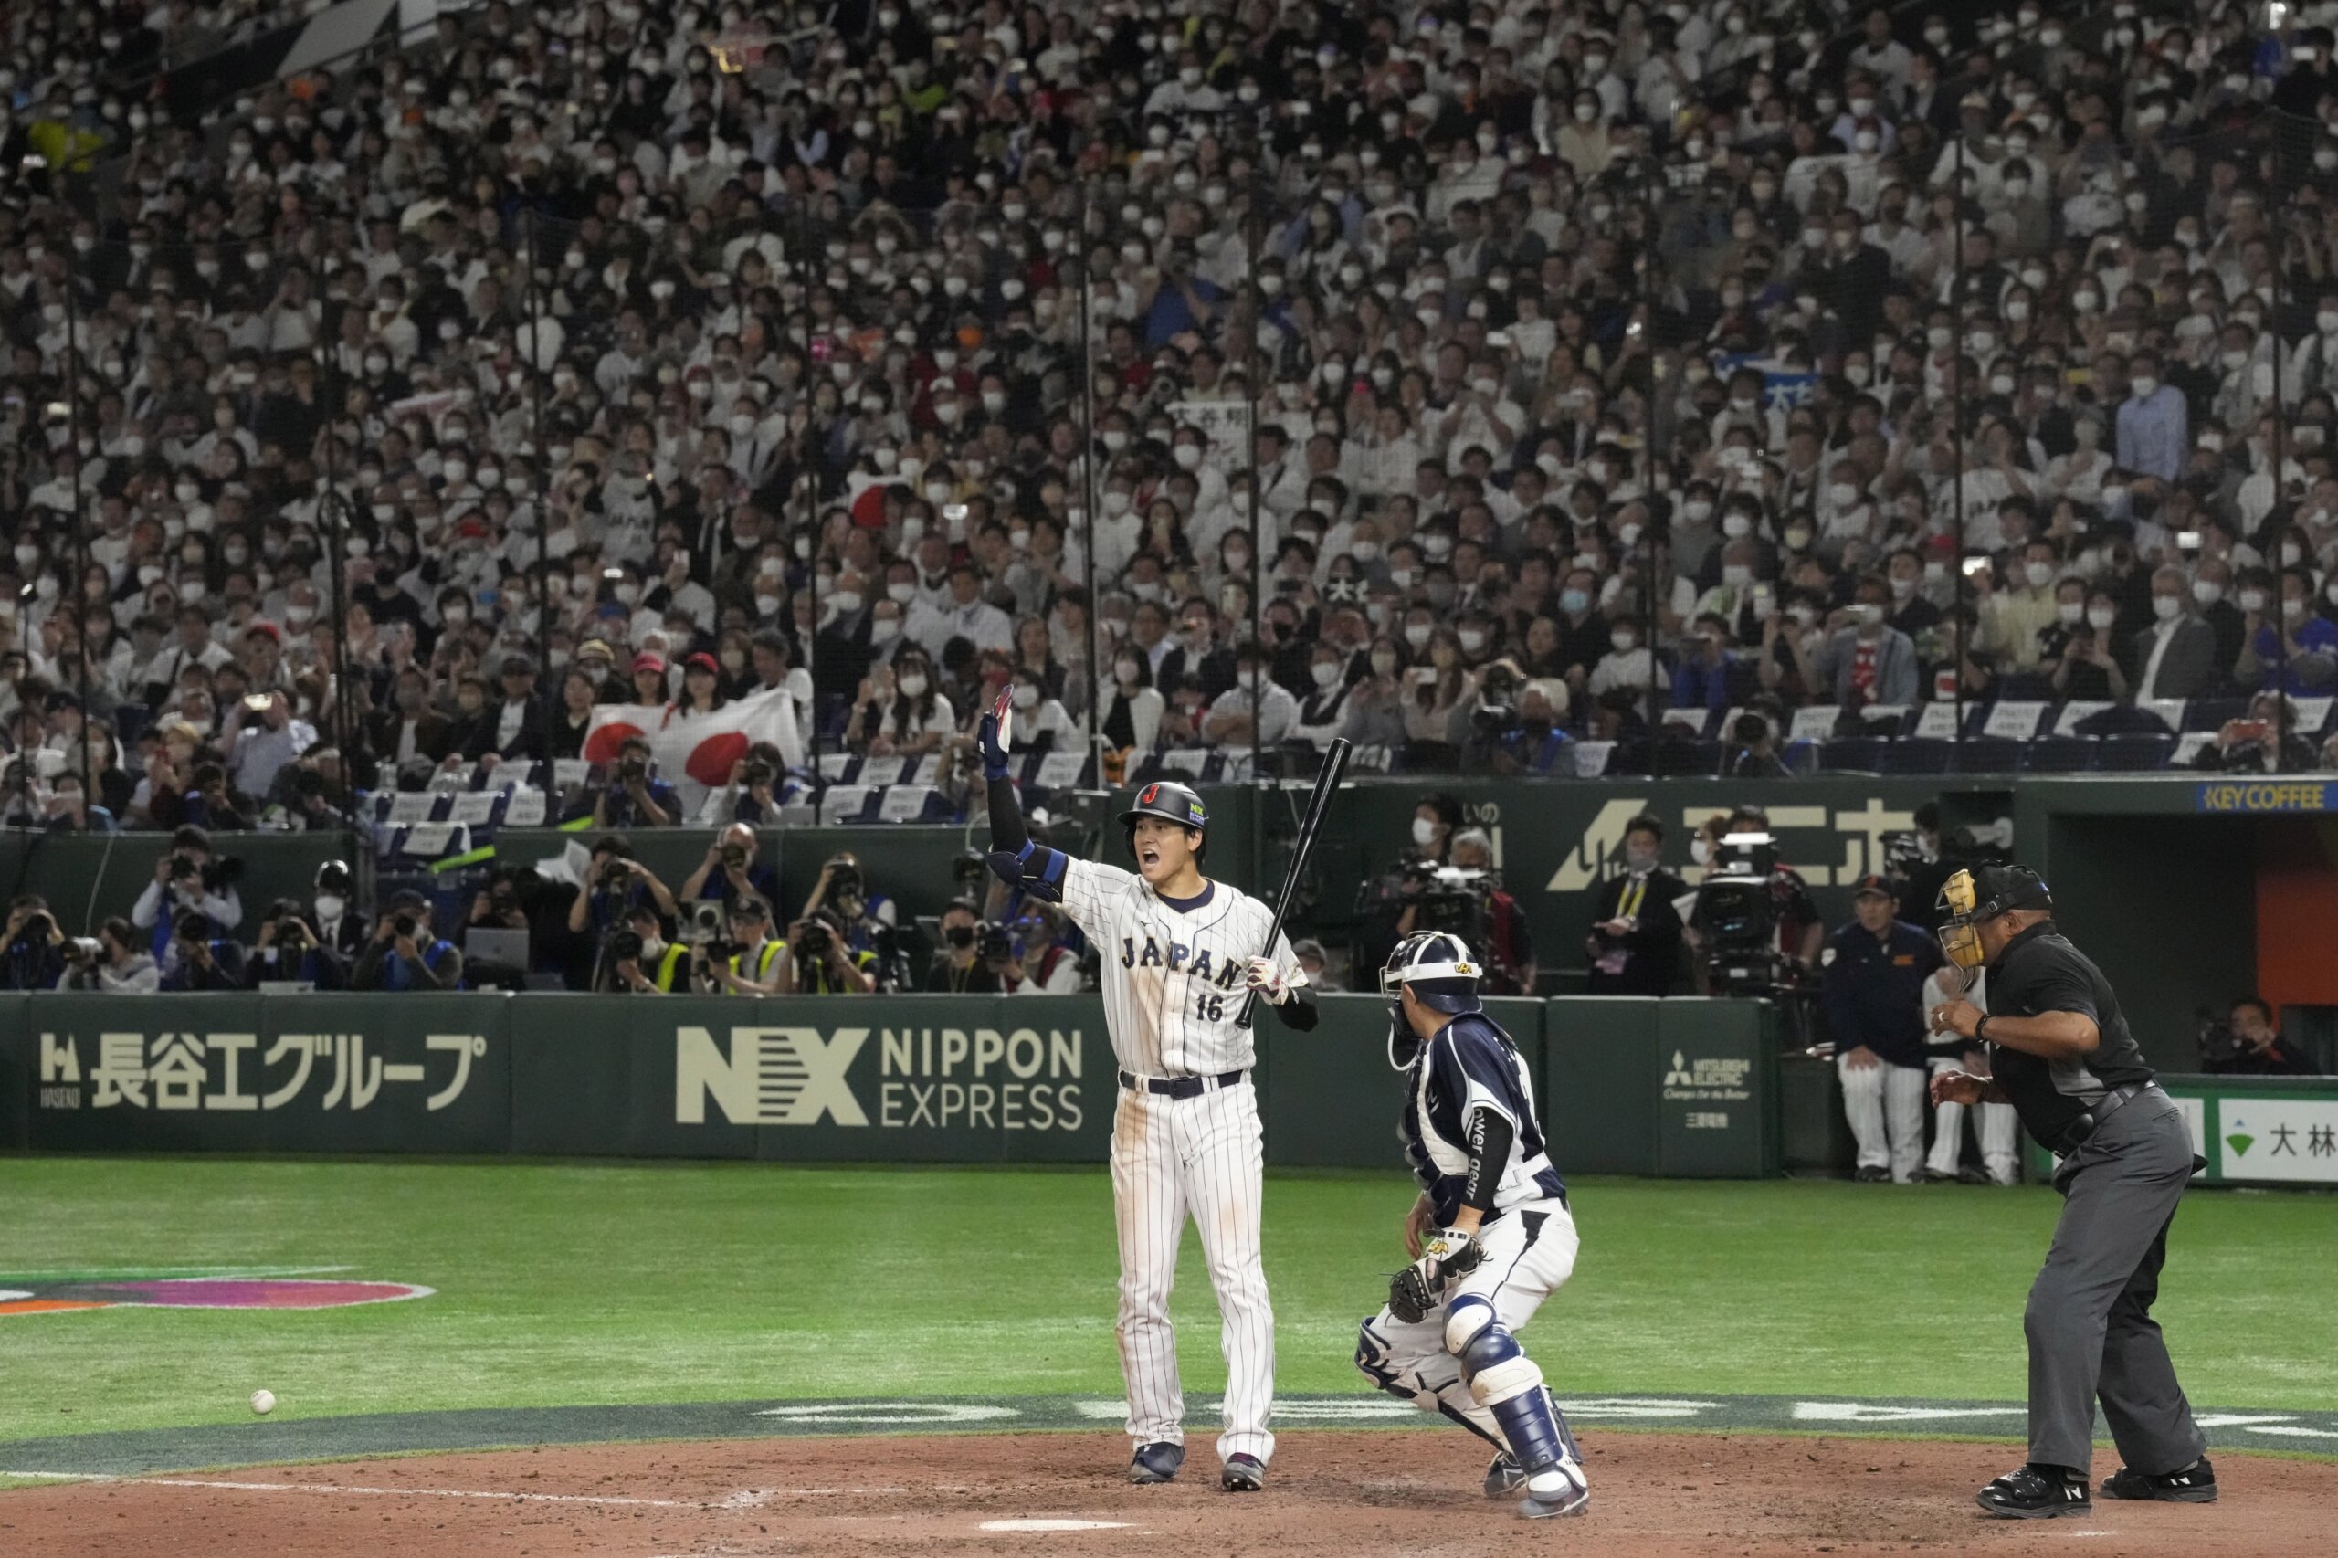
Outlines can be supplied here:
M1256 1492L1274 1455L1274 1310L1260 1266L1263 1149L1251 1088L1256 990L1295 1029L1316 1022L1291 940L1267 945L1274 912L1202 875L1209 812L1183 784L1148 784L1120 821L1136 870L1075 861L1024 830L1008 774L1010 704L982 716L977 744L991 805L991 870L1061 903L1104 966L1104 1025L1120 1062L1113 1111L1113 1221L1120 1228L1120 1373L1129 1390L1132 1483L1174 1481L1185 1464L1185 1394L1169 1326L1169 1284L1185 1219L1202 1228L1225 1352L1218 1483Z

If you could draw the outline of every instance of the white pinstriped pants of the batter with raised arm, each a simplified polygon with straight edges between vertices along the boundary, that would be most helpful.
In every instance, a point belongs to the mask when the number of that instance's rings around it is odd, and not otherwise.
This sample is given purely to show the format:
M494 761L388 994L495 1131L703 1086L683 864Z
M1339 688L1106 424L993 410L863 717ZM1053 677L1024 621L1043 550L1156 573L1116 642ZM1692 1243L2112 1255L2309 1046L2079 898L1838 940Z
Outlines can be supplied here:
M1274 1308L1260 1263L1265 1149L1248 1078L1199 1097L1120 1088L1113 1114L1113 1219L1120 1226L1120 1378L1129 1439L1185 1443L1169 1289L1185 1219L1202 1228L1218 1289L1225 1352L1225 1432L1218 1460L1274 1455Z

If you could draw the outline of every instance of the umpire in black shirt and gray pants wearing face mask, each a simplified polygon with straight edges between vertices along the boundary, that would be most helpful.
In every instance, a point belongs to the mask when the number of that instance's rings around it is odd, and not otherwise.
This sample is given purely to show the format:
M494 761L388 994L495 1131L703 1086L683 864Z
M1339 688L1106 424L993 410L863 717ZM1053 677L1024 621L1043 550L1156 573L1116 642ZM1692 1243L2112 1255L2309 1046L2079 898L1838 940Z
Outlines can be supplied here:
M2125 1462L2111 1500L2207 1504L2216 1474L2151 1319L2167 1223L2200 1160L2174 1099L2160 1092L2102 971L2053 924L2034 870L1959 870L1941 889L1941 952L1990 968L1990 1011L1931 1008L1934 1034L1985 1046L1992 1076L1941 1071L1934 1102L2011 1102L2062 1158L2062 1221L2029 1287L2029 1462L1980 1490L2006 1518L2088 1514L2095 1401Z

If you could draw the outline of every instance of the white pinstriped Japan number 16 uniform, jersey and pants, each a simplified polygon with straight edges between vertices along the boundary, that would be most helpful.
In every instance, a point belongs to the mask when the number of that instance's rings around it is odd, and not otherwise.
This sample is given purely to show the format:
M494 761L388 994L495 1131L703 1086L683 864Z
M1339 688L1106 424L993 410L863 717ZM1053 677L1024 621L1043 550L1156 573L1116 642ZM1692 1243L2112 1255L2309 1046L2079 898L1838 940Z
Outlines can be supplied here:
M1274 912L1225 882L1195 898L1164 898L1143 877L1071 861L1064 910L1097 945L1104 1018L1122 1071L1113 1114L1113 1216L1120 1226L1120 1371L1129 1390L1129 1436L1185 1441L1169 1287L1192 1216L1202 1230L1209 1282L1218 1291L1225 1352L1225 1432L1218 1457L1274 1453L1274 1310L1260 1266L1260 1174L1265 1153L1256 1048L1234 1027L1248 959L1267 940ZM1277 936L1274 964L1295 968ZM1260 1006L1265 1006L1260 1001ZM1129 1081L1134 1078L1134 1088ZM1171 1083L1195 1090L1171 1097Z

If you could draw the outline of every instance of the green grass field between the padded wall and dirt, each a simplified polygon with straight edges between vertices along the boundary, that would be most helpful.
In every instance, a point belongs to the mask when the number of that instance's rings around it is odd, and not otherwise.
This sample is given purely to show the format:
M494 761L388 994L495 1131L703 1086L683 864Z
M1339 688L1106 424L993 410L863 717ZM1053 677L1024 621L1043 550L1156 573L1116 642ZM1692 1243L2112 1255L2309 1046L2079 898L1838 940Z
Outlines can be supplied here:
M1527 1331L1566 1392L2020 1399L2043 1188L1576 1186L1576 1280ZM1400 1259L1396 1174L1267 1181L1279 1385L1363 1390ZM2202 1406L2338 1404L2338 1198L2198 1193L2158 1315ZM0 1317L0 1441L285 1415L1118 1394L1101 1170L0 1160L0 1284L348 1268L437 1289L318 1312ZM1190 1392L1223 1383L1185 1240Z

